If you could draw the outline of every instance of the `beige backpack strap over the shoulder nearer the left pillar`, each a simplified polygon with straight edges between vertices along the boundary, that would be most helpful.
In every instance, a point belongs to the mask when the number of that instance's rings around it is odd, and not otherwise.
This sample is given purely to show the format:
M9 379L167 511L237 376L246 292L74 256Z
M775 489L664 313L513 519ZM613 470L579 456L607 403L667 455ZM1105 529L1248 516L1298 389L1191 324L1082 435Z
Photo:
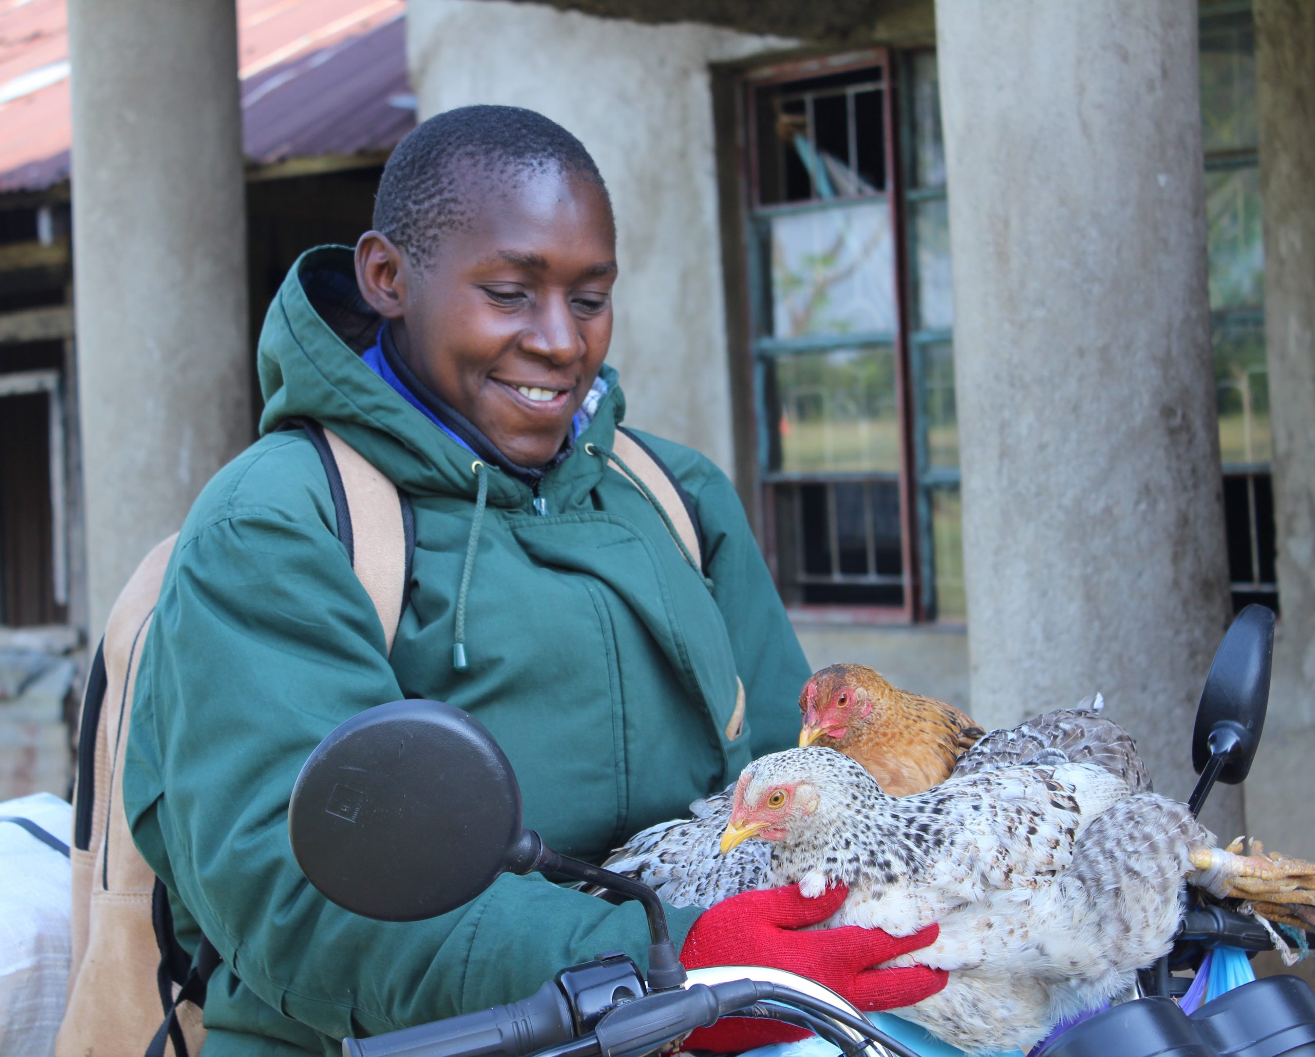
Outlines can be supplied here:
M325 429L323 433L347 500L351 567L375 603L391 653L409 572L404 500L397 486L373 463L333 430Z

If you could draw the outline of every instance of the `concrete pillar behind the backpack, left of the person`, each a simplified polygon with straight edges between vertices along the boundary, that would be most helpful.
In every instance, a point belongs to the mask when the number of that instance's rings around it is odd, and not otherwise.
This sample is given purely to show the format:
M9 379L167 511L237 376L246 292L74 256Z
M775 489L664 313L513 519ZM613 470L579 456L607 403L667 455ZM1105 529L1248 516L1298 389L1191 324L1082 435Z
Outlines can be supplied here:
M70 0L89 634L250 439L234 0Z

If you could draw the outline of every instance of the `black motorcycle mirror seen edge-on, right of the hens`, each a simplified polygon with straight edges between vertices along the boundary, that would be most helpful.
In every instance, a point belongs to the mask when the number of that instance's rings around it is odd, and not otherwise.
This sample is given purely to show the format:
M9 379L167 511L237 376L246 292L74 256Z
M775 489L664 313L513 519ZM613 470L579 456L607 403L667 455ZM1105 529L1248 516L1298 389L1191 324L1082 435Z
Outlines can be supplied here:
M1211 756L1223 755L1218 781L1236 785L1247 777L1265 727L1273 657L1273 611L1247 606L1219 643L1201 692L1191 735L1191 765L1198 774Z

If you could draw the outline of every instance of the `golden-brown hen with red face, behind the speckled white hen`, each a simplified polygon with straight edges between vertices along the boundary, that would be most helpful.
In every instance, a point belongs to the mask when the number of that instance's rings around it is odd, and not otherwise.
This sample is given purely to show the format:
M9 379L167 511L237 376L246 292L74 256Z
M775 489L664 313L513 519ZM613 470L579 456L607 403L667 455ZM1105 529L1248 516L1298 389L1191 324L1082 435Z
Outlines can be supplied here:
M801 747L839 749L896 797L940 785L985 734L953 705L901 690L863 664L815 672L800 713Z

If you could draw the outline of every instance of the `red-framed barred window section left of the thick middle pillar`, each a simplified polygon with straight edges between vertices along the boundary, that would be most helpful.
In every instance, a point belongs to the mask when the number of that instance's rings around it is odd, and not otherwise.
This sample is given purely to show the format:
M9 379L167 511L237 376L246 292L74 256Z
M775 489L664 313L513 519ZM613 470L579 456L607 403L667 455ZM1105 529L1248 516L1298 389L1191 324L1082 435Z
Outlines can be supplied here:
M744 88L768 559L788 605L911 619L914 501L888 55L759 70Z

